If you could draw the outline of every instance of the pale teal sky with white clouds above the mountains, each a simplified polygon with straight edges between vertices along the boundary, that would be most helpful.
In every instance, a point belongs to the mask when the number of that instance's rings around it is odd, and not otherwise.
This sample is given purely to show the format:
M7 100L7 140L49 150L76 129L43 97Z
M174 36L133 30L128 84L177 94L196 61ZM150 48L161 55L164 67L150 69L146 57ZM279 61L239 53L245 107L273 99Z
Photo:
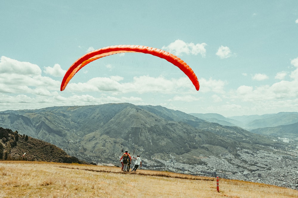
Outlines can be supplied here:
M143 45L185 61L81 56ZM0 1L0 111L131 103L225 117L298 112L298 1Z

